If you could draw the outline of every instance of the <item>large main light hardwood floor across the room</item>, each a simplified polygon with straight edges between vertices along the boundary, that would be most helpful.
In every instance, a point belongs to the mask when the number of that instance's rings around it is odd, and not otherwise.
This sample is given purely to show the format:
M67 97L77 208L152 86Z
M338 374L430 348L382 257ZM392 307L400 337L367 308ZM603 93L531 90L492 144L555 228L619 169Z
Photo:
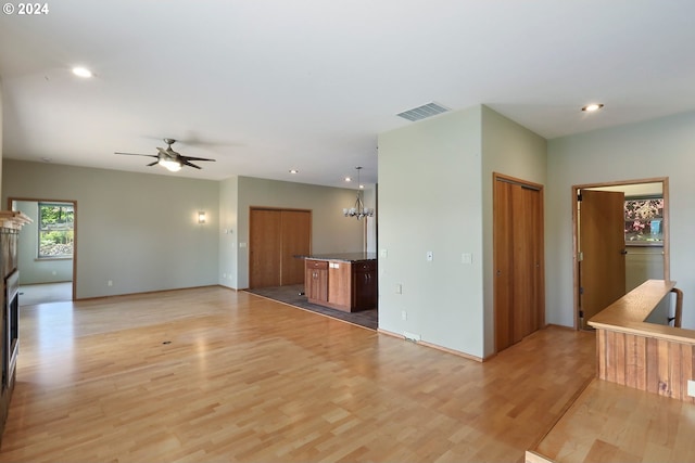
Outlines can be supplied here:
M0 462L520 462L595 373L592 333L479 363L220 287L21 323Z

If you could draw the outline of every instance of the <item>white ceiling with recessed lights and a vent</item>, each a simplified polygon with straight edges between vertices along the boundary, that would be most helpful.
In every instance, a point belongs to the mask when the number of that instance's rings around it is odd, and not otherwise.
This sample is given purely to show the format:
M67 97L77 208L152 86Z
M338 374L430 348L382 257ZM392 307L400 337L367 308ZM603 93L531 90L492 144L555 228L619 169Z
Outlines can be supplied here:
M377 134L429 102L548 139L695 110L692 0L46 4L0 15L5 158L342 187L357 165L376 182ZM163 138L217 162L170 173L114 154Z

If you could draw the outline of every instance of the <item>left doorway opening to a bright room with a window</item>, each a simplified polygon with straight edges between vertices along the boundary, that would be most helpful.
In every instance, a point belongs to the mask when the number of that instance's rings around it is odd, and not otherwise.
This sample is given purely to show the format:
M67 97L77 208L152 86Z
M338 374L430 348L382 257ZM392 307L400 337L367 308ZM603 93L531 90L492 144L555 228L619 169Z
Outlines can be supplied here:
M10 197L9 208L31 219L20 231L22 306L75 300L77 202Z

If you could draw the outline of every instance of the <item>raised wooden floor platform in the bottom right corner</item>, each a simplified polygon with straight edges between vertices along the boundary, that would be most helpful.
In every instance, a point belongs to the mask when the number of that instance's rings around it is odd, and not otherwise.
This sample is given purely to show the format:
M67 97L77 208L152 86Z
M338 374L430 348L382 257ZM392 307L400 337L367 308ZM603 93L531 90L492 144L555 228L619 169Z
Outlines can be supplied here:
M692 403L594 380L527 461L692 462L693 436Z

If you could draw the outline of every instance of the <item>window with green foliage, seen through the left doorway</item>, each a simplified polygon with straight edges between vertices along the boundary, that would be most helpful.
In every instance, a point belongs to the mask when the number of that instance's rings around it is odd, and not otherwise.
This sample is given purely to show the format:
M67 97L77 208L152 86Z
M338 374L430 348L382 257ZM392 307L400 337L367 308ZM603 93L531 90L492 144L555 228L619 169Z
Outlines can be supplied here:
M75 209L70 203L39 203L39 259L73 257Z

